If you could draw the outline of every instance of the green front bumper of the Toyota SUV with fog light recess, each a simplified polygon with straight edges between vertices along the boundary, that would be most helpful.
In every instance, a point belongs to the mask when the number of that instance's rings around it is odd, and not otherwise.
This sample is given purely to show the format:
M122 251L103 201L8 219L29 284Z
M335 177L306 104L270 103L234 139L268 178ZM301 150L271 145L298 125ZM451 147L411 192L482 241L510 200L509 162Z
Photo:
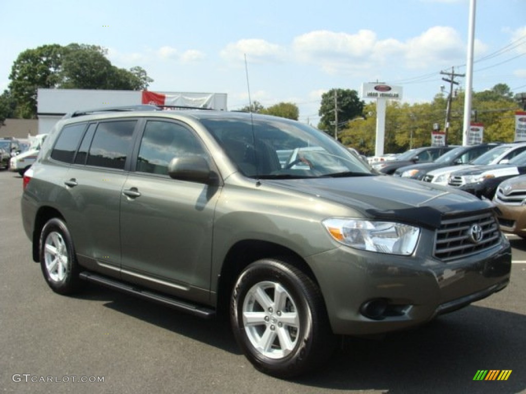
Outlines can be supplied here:
M509 283L511 248L505 237L491 250L444 263L340 247L312 256L332 330L342 335L409 328L502 290ZM372 304L371 304L372 303ZM385 306L371 317L365 306Z

